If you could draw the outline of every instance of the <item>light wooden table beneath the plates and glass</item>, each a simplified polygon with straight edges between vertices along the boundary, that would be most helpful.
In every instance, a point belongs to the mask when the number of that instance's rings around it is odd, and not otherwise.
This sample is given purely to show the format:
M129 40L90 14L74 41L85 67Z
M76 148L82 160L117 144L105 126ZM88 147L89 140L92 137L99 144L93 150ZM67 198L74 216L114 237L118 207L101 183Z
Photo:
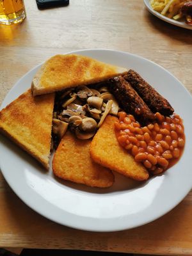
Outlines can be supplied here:
M19 26L0 26L0 103L35 65L54 54L88 48L117 49L148 58L192 92L192 31L152 16L141 0L71 0L68 7L42 11L35 1L26 0L26 12L27 19ZM192 255L192 193L148 225L93 233L40 216L21 202L0 175L0 223L0 247Z

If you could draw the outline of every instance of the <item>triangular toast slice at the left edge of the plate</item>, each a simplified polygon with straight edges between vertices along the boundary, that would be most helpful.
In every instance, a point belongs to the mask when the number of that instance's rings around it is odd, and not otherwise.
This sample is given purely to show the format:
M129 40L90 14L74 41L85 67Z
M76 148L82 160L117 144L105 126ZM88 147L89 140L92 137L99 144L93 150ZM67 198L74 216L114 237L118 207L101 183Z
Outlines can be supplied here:
M54 93L33 97L31 89L0 111L0 132L49 168Z

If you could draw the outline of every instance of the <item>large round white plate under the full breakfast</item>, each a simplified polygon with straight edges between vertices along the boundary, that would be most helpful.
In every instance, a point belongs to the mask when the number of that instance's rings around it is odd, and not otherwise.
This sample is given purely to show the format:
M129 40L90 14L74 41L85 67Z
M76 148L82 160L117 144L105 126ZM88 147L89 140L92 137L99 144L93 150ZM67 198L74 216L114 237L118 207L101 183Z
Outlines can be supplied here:
M132 68L170 101L184 119L186 147L179 163L147 182L132 182L116 175L109 189L93 189L59 180L45 172L33 157L1 136L0 166L15 193L36 212L62 225L92 231L116 231L138 227L163 216L179 204L192 187L191 95L164 68L127 52L91 49L76 53L106 63ZM31 86L40 65L13 86L2 108Z

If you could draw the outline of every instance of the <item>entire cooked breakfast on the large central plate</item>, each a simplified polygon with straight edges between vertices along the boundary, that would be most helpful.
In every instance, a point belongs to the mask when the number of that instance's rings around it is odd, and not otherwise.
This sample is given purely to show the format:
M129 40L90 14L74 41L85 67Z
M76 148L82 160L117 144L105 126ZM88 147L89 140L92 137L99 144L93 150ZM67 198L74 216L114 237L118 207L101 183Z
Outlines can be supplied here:
M173 1L172 1L173 2ZM108 188L164 173L182 156L182 118L136 71L56 55L0 111L0 132L63 180Z

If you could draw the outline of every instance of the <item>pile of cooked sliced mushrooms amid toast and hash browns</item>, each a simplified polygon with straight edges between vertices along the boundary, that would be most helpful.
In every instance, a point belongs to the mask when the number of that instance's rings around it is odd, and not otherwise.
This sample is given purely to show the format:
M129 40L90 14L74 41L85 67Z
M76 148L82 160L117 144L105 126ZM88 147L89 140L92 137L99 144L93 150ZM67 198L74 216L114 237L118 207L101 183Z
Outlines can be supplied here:
M67 124L77 138L86 140L92 138L106 116L117 115L118 104L107 86L97 84L95 88L79 86L56 95L54 109L53 133L56 124ZM56 121L55 121L56 120ZM58 135L61 139L62 133Z

